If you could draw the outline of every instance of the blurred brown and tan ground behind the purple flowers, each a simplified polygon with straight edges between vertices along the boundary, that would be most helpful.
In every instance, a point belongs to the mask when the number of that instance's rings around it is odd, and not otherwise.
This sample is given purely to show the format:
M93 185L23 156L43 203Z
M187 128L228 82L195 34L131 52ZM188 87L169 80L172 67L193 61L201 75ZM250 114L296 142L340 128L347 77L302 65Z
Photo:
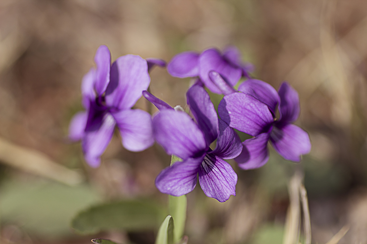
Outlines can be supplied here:
M116 134L102 166L91 169L80 144L67 139L71 117L83 109L81 78L101 44L112 60L133 53L166 61L185 50L236 45L256 78L276 89L287 80L299 93L297 124L310 134L311 153L295 165L270 150L268 164L246 172L231 162L239 182L226 203L196 187L188 194L189 243L281 243L295 168L305 173L313 242L326 243L349 224L340 243L367 243L367 1L358 0L2 0L0 136L13 143L0 150L11 154L0 155L2 243L90 243L69 229L77 211L106 199L166 199L154 186L170 160L159 146L131 153ZM161 68L151 79L157 97L186 105L189 79ZM220 98L212 94L214 103ZM147 106L143 99L136 105ZM19 159L28 149L65 168L44 172L37 157ZM101 237L154 242L150 232Z

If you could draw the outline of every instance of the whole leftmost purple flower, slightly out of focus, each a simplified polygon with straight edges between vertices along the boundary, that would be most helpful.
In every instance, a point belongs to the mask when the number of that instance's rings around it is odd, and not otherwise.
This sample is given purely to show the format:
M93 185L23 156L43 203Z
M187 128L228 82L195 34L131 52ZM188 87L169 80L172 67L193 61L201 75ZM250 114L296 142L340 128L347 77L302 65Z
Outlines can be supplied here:
M152 146L154 138L149 113L131 109L149 86L147 61L137 55L125 55L111 65L110 52L104 45L97 49L94 61L97 69L91 68L81 84L86 111L73 117L69 138L81 140L87 163L98 167L116 124L127 150L145 150Z

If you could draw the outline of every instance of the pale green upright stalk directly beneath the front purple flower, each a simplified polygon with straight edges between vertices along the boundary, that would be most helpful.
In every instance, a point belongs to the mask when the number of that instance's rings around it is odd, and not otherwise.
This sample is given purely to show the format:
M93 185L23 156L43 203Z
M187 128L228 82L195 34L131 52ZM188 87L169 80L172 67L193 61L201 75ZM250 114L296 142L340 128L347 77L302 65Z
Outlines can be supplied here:
M186 222L186 207L187 199L186 195L183 196L168 196L168 202L170 207L170 215L175 221L174 229L174 241L178 243L183 236Z

